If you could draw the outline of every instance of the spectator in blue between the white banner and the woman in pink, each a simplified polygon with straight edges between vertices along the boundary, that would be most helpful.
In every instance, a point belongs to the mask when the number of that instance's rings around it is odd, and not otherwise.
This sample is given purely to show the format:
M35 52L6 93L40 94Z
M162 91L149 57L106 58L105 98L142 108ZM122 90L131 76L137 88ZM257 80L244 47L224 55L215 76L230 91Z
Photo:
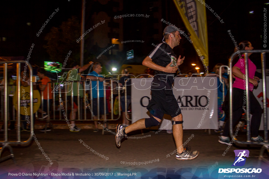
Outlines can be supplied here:
M213 72L208 73L210 76L218 76L220 77L220 67L223 66L221 63L217 63L214 68ZM221 80L224 82L224 97L226 96L227 93L227 86L228 86L228 74L225 73L224 67L221 69ZM220 80L218 80L218 119L219 119L219 129L215 130L215 132L222 132L223 131L223 124L225 121L225 112L222 111L222 104L223 104L224 98L223 98L223 86ZM221 119L220 119L221 118Z

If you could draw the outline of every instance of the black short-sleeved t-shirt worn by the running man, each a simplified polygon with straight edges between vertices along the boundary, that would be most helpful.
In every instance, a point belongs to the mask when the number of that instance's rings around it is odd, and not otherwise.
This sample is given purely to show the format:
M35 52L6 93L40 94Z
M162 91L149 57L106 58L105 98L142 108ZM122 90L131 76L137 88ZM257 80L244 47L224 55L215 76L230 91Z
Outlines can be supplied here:
M172 60L176 61L173 49L167 43L159 43L148 55L152 61L162 67L166 67ZM151 83L151 89L172 89L174 73L166 73L155 70L155 76Z

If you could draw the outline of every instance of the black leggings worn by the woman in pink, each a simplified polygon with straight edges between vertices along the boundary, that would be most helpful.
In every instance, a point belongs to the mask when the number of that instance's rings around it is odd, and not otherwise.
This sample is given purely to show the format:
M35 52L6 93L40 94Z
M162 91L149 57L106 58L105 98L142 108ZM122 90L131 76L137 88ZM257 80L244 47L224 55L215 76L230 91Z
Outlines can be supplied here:
M246 109L246 100L244 100L244 92L245 90L239 88L233 88L233 128L238 124L241 119L243 108ZM253 92L249 91L249 98L250 98L250 113L252 114L251 122L250 122L250 129L252 137L259 136L259 128L261 123L261 114L263 110ZM225 101L229 100L229 95L226 95ZM247 114L248 115L248 114ZM229 121L228 120L225 124L224 131L222 136L228 137L229 136Z

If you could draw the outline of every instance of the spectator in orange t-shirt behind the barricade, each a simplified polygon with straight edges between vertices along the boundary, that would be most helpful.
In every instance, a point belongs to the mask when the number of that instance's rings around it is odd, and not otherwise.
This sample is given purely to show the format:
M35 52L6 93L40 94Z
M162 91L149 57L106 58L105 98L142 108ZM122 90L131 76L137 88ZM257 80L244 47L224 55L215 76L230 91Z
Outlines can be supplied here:
M48 84L48 82L51 82L51 79L49 79L46 76L46 73L47 73L47 71L44 68L37 69L37 76L40 78L40 80L38 81L38 88L40 91L43 91L43 111L41 108L38 109L38 112L40 112L42 114L42 119L45 119L48 117L49 109L47 108L47 104L50 107L51 103L52 103L51 83ZM48 92L49 92L49 94L48 94ZM49 95L49 97L48 97L48 95ZM42 131L42 132L51 131L51 129L48 127L47 130L45 130L45 128L43 128L40 131Z

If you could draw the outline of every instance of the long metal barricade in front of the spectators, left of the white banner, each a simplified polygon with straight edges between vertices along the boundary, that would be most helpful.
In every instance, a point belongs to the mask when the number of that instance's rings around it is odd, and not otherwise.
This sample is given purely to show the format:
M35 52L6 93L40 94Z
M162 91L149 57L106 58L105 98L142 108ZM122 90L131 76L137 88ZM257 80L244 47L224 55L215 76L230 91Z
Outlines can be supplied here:
M91 80L91 81L100 81L100 80ZM58 89L58 92L53 92L53 97L52 97L52 101L53 101L53 105L52 105L52 107L53 107L53 110L52 110L52 112L53 112L53 117L50 117L50 114L49 114L49 112L48 112L48 119L42 119L42 118L39 118L39 120L47 120L47 122L50 122L51 120L65 120L65 118L63 118L62 116L63 116L63 112L65 112L65 115L66 116L68 116L67 118L68 118L68 120L70 120L70 121L99 121L99 120L118 120L119 118L120 118L120 116L121 116L121 114L120 114L120 112L119 112L119 116L116 118L116 119L114 119L114 115L113 115L113 104L114 104L114 100L113 100L113 97L111 97L111 118L110 119L107 119L107 115L104 115L104 119L100 119L100 108L99 108L99 104L100 104L100 94L99 94L99 90L98 89L100 89L100 86L99 86L99 83L97 83L97 112L98 112L98 115L97 115L97 118L98 119L93 119L93 112L92 112L92 110L93 110L93 95L92 95L92 93L93 93L93 90L95 90L95 89L93 89L93 86L92 86L92 83L91 83L91 81L89 82L89 80L87 81L87 80L80 80L80 81L62 81L63 83L65 83L66 82L66 84L69 84L69 85L77 85L77 96L74 96L74 89L73 89L73 87L71 88L71 105L68 105L68 99L67 99L67 95L66 95L66 93L67 93L67 85L62 85L62 86L60 86L60 87L58 87L57 89ZM104 80L104 82L111 82L111 84L112 84L112 81L113 80L111 80L111 79L105 79ZM83 99L81 99L80 98L80 96L79 96L79 84L80 84L80 82L82 82L83 83ZM57 85L61 85L61 84L59 84L59 82L55 82L55 81L53 81L53 82L48 82L48 85L52 85L52 87L53 87L53 90L55 89L55 86L57 86ZM87 89L86 87L87 86L89 86L89 89ZM108 112L106 111L106 106L107 106L107 103L106 103L106 90L107 89L105 89L105 86L102 86L102 87L104 87L104 90L103 90L103 92L104 92L104 114L107 114ZM111 85L111 87L112 87L112 85ZM48 89L48 88L47 88ZM48 89L49 90L49 89ZM87 96L86 95L86 91L87 90L90 90L90 93L88 93L88 94L90 94L90 100L88 100L88 98L89 98L89 96ZM118 92L119 92L119 85L118 85ZM113 89L110 89L110 93L111 93L111 96L113 96ZM49 95L49 94L48 94ZM58 96L57 96L58 95ZM41 96L42 96L42 110L43 110L43 93L41 93ZM64 100L62 100L62 101L59 101L59 118L58 119L56 119L56 110L55 110L55 107L56 107L56 105L55 105L55 102L56 102L56 96L57 96L57 98L59 97L59 99L64 99ZM74 109L74 104L73 104L73 102L74 102L74 97L76 97L77 98L77 107L78 107L78 115L77 115L77 119L70 119L70 116L69 116L69 114L67 113L67 110L69 109L69 107L70 107L70 109L71 109L71 115L73 116L73 113L74 113L74 111L72 110L72 109ZM119 98L120 98L120 94L119 94ZM82 110L83 111L83 113L84 113L84 115L83 114L81 114L81 108L82 108L82 106L80 106L80 102L81 102L81 100L83 100L84 102L83 102L83 104L84 104L84 109ZM89 103L87 102L87 101L90 101L90 103L91 103L91 105L89 105ZM64 104L65 103L65 104ZM48 104L47 104L48 105ZM87 107L87 108L86 108ZM120 108L121 108L121 104L119 103L119 110L120 110ZM63 108L63 110L62 110L62 108ZM48 109L49 109L49 106L48 106ZM91 112L91 118L89 119L89 115L87 116L87 109L90 109L90 112ZM36 117L38 118L38 116L37 116L38 114L37 114L37 112L36 112ZM81 119L81 117L82 117L82 119Z

